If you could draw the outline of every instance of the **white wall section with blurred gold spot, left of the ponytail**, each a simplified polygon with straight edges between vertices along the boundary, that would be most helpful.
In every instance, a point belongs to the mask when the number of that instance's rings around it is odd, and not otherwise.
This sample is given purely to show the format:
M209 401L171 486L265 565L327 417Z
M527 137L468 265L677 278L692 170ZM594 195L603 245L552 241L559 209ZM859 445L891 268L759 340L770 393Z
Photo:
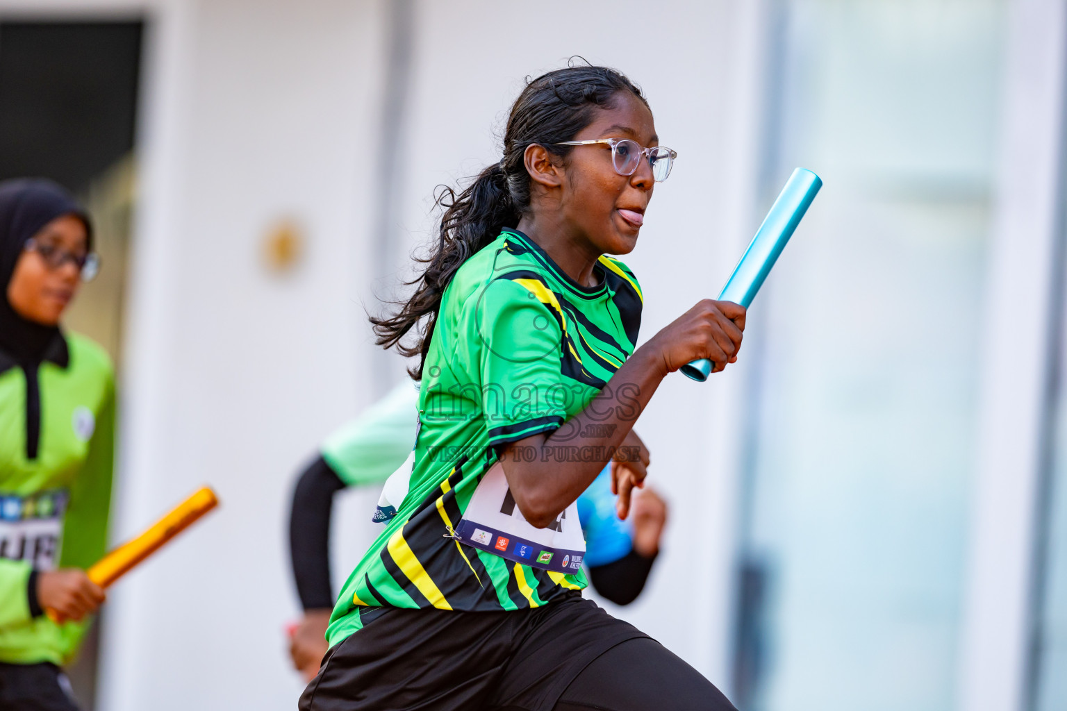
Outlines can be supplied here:
M296 468L369 392L361 298L380 51L371 2L153 11L116 537L201 483L221 510L116 587L107 709L291 709ZM303 225L275 276L261 240Z

